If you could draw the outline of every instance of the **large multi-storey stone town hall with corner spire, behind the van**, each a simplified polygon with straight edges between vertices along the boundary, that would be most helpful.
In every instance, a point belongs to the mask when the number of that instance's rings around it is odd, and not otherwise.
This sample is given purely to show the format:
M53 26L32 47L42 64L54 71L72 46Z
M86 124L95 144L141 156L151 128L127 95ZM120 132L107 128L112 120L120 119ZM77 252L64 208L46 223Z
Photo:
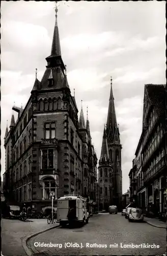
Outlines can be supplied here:
M97 156L85 123L71 95L61 57L56 22L51 55L46 58L41 81L36 77L24 109L13 107L10 131L5 134L6 171L4 190L8 198L40 211L51 206L50 192L57 198L79 194L96 202ZM81 120L81 122L80 122Z

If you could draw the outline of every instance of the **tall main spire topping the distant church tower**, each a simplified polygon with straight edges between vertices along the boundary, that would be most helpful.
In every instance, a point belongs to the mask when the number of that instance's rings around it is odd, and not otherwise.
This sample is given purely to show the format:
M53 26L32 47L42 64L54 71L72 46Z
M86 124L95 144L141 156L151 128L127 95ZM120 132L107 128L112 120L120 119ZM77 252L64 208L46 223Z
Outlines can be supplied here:
M118 142L120 143L119 131L117 125L115 104L114 104L114 95L113 95L113 82L112 77L110 79L111 88L110 88L110 97L109 97L109 106L108 106L108 117L107 117L107 137L108 142Z

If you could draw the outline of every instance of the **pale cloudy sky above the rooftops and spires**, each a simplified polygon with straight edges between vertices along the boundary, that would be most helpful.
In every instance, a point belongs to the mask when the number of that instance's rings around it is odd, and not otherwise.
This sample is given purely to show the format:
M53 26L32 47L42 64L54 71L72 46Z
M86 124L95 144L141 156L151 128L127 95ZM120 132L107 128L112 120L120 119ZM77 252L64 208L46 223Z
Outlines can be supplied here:
M165 1L60 1L58 26L62 58L71 93L80 112L81 99L99 159L107 120L110 76L122 144L123 193L142 131L144 85L165 80ZM25 106L35 81L41 80L50 55L55 22L54 2L2 1L1 134L12 106ZM15 115L16 117L16 115ZM16 120L16 118L15 118Z

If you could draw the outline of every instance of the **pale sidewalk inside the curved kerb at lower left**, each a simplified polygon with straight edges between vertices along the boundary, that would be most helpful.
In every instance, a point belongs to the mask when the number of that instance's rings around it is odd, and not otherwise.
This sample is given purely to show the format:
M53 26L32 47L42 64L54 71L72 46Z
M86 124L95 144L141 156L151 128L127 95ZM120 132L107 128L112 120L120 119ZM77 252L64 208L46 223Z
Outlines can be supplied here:
M31 222L30 222L31 221ZM27 237L48 228L59 226L59 223L47 224L47 219L19 221L2 219L2 254L25 256L24 244Z

